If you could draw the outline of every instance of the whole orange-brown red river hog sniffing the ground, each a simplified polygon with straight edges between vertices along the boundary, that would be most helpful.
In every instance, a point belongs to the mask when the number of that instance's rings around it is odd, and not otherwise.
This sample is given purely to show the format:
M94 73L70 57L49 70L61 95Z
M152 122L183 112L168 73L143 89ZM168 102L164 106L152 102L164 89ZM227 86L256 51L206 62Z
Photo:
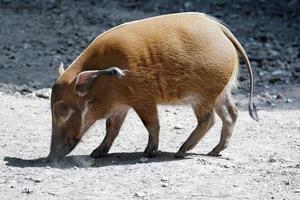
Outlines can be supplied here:
M61 159L97 120L106 119L106 136L91 153L107 155L130 108L149 133L144 153L155 155L159 143L158 104L190 104L197 127L176 157L183 157L215 123L222 120L224 150L238 116L231 98L238 55L250 75L249 113L257 119L253 76L248 57L234 35L203 13L152 17L114 27L99 35L64 70L59 69L51 95L52 138L48 158Z

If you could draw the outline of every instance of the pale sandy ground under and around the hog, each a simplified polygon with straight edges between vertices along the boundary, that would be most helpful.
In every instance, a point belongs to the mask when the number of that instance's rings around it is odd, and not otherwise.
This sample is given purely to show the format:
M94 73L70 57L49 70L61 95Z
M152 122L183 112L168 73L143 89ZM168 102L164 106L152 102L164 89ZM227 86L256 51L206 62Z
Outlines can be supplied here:
M49 100L0 92L1 199L299 199L300 107L293 102L262 107L258 123L240 111L221 157L205 155L218 142L218 120L186 159L175 159L196 120L189 107L161 106L157 157L142 158L147 132L131 112L108 157L88 156L104 136L100 121L71 155L47 163Z

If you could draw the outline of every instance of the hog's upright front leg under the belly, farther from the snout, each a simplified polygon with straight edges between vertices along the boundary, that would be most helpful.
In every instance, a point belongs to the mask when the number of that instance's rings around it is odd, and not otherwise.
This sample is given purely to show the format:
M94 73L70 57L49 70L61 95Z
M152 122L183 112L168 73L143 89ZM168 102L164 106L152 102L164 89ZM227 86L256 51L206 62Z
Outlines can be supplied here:
M148 157L152 157L156 154L158 150L159 142L159 119L157 114L156 104L147 104L142 106L133 107L135 112L141 118L144 126L149 133L148 145L144 153Z

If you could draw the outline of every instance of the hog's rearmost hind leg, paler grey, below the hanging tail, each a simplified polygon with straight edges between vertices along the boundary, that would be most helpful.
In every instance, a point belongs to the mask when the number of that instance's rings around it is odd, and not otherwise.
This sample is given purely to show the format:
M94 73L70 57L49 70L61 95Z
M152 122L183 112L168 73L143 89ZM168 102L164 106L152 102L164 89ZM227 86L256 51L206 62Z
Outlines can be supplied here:
M238 110L232 101L230 92L226 92L225 95L218 98L215 110L222 119L222 131L220 142L208 153L210 156L219 156L219 153L228 146L238 116Z

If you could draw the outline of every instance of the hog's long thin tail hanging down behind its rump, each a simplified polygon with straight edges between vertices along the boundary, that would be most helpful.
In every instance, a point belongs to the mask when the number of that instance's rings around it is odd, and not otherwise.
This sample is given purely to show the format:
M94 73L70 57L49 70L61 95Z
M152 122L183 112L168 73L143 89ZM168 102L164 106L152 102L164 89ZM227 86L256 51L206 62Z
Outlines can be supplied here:
M236 37L231 33L231 31L225 26L223 25L219 20L215 19L214 17L208 16L209 18L211 18L212 20L214 20L215 22L217 22L220 27L221 30L223 31L223 33L226 35L226 37L233 43L233 45L235 46L236 50L238 51L239 55L242 57L243 61L246 63L247 65L247 69L248 69L248 73L249 73L249 77L250 77L250 91L249 91L249 114L250 116L258 121L258 115L257 115L257 111L256 111L256 106L253 103L253 73L252 73L252 66L250 64L250 61L248 59L248 56L244 50L244 48L242 47L242 45L240 44L240 42L236 39Z

